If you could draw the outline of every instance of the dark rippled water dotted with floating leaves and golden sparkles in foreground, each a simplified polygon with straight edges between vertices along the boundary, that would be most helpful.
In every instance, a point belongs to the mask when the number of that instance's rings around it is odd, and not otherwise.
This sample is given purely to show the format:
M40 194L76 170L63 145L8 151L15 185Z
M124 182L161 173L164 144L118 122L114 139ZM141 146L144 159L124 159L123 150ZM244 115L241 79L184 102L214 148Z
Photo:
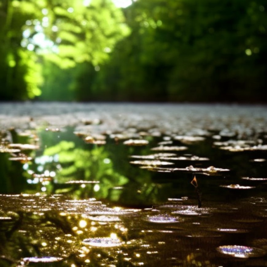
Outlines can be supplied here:
M264 130L102 125L2 131L0 266L267 266Z

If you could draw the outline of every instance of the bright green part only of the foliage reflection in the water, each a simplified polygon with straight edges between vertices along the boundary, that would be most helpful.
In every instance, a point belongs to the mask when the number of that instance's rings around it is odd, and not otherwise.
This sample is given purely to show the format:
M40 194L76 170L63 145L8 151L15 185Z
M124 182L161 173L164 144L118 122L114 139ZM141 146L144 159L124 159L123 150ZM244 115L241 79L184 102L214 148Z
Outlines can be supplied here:
M108 158L109 154L104 147L94 147L91 150L75 148L74 142L61 141L59 144L45 149L44 155L58 155L61 165L56 176L57 183L64 184L69 180L99 181L99 191L94 193L98 197L106 197L109 188L120 186L128 182L128 178L114 171L113 163ZM89 185L91 186L91 185ZM69 187L66 184L66 187ZM74 189L73 189L74 188ZM78 195L93 194L88 189L72 186Z

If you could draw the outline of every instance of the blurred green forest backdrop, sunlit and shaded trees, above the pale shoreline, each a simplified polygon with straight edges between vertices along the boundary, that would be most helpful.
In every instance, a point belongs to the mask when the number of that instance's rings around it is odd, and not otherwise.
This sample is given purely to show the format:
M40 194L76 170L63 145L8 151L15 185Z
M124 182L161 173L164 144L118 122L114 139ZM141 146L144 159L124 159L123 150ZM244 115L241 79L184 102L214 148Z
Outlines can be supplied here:
M117 2L2 0L0 100L267 102L266 0Z

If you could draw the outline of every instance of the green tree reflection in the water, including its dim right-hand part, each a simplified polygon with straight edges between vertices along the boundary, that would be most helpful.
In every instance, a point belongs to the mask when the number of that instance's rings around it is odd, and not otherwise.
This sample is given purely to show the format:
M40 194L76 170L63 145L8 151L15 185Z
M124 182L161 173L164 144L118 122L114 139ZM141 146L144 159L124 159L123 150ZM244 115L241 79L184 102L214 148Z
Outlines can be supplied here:
M57 162L46 163L46 169L56 169L57 173L47 192L71 193L74 198L96 197L127 206L147 206L157 203L159 197L166 199L163 192L159 193L165 185L153 183L150 172L128 163L131 149L120 144L75 147L72 141L45 149L45 156L57 158Z

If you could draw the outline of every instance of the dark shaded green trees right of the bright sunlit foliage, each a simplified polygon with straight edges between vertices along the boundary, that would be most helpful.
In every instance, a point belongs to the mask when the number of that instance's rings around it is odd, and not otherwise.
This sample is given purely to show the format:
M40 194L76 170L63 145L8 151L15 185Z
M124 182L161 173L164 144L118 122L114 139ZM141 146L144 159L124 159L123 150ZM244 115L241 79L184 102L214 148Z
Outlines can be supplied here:
M265 1L139 0L125 16L131 35L80 75L80 99L267 99Z

